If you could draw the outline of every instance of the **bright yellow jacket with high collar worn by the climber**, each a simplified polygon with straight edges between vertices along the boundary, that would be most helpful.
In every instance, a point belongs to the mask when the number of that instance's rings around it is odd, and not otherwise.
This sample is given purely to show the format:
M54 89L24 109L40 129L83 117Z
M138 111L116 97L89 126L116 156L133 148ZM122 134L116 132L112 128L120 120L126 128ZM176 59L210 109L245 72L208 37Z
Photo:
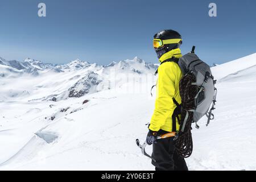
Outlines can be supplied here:
M160 57L160 62L170 59L172 56L180 58L179 48L173 49ZM149 129L159 131L160 129L172 132L172 114L176 105L172 98L181 104L179 92L179 81L183 76L179 65L174 62L166 62L158 68L158 81L156 82L155 110L151 118ZM179 131L179 123L176 119L176 130Z

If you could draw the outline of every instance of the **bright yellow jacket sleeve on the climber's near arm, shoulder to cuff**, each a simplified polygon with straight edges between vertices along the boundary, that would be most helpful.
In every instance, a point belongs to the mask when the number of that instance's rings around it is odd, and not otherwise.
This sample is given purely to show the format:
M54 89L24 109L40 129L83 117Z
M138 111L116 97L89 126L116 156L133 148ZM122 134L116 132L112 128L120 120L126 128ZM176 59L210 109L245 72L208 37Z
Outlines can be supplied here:
M172 98L175 96L175 77L172 63L162 64L158 68L158 82L156 91L155 110L152 115L149 129L159 131L171 118L175 104Z

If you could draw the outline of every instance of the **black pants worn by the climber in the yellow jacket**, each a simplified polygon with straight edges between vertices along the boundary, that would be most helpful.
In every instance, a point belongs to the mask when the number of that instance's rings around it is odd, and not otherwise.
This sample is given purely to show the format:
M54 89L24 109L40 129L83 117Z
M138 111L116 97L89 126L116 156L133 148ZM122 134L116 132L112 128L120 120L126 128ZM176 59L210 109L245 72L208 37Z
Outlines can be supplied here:
M177 154L174 137L164 138L153 144L152 164L156 171L188 171L183 157Z

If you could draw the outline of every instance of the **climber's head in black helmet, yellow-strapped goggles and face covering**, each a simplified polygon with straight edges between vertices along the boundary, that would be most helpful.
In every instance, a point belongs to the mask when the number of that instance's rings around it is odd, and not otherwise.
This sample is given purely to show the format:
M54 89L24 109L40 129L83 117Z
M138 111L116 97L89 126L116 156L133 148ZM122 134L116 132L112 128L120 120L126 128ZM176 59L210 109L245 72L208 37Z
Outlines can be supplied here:
M163 30L154 35L154 49L158 59L164 53L179 48L181 44L181 35L174 30Z

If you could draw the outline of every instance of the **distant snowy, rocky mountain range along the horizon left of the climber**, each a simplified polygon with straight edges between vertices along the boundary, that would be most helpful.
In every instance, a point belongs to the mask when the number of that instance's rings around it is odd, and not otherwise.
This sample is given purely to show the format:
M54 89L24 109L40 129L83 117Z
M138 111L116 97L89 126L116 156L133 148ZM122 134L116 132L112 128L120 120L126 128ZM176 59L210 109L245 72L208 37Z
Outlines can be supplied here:
M29 86L24 86L23 89L17 88L12 90L13 94L8 94L10 89L7 89L7 96L0 96L6 99L27 98L29 101L60 101L72 97L82 97L85 94L100 92L101 90L113 89L110 82L119 82L119 74L135 74L144 75L146 73L154 73L158 68L157 65L146 63L139 57L134 57L133 60L122 60L119 62L112 62L109 65L98 65L96 63L89 63L76 59L67 64L48 64L39 60L27 58L22 62L16 61L16 64L10 64L10 61L1 59L0 64L0 78L5 78L6 84L9 82L16 82L20 79L22 82L27 82ZM22 79L26 78L26 80ZM28 81L31 80L31 81ZM118 81L119 80L119 81ZM34 84L32 84L34 82ZM43 82L43 84L40 84ZM113 84L114 85L114 84ZM16 87L10 86L11 87ZM40 92L38 96L35 92L39 90L46 90ZM22 94L23 92L29 94ZM4 95L4 94L3 94ZM30 97L31 96L31 97Z

